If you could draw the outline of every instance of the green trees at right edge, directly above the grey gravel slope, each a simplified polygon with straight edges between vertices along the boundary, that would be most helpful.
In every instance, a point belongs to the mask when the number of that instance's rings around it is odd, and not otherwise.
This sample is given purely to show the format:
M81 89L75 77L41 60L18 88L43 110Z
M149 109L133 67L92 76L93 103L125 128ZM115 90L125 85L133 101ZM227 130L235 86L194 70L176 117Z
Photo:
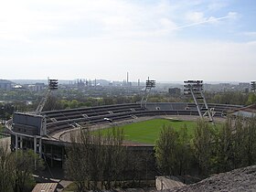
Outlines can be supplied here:
M256 164L256 118L228 117L218 129L200 123L193 139L197 163L207 176Z

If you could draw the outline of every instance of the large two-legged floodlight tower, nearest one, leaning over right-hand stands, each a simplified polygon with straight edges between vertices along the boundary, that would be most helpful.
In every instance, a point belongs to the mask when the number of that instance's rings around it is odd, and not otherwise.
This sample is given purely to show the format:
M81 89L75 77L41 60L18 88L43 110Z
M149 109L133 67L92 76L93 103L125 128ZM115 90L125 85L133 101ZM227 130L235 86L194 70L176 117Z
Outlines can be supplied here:
M206 114L208 114L209 121L213 123L213 117L211 115L210 110L208 109L208 103L206 101L206 98L203 93L203 80L186 80L184 81L185 89L184 94L185 95L192 95L195 104L197 106L197 112L199 113L200 118L203 118ZM201 109L198 104L198 100L203 100L205 104L205 108L207 112L202 114Z

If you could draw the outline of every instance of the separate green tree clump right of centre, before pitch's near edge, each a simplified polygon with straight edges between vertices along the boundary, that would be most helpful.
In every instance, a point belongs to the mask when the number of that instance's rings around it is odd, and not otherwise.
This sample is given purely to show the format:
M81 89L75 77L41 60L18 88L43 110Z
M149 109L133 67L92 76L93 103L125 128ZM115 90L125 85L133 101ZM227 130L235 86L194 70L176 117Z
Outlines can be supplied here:
M156 164L163 174L187 174L192 162L189 138L186 125L178 132L172 126L163 126L155 143Z

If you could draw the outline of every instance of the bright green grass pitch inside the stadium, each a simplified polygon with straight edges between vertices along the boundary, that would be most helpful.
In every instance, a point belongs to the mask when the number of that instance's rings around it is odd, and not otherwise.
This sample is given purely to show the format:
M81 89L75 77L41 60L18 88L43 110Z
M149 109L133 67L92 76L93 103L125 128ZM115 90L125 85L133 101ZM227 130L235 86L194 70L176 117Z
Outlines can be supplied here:
M176 131L187 126L189 135L194 133L197 123L188 121L177 121L167 119L154 119L139 123L131 123L121 126L125 135L124 140L142 144L155 144L158 135L164 125L171 125ZM101 133L107 133L107 129L101 130Z

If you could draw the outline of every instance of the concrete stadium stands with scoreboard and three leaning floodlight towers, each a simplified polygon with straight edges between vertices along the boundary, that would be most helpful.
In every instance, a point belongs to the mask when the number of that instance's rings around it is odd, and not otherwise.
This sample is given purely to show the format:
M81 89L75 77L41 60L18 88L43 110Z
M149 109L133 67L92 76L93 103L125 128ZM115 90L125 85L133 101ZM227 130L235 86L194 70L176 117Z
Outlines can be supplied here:
M184 93L191 95L194 102L147 102L149 92L155 88L155 80L148 79L142 101L137 103L43 112L50 92L58 89L58 80L48 80L47 94L39 102L36 112L15 112L13 119L5 123L5 127L11 134L11 150L33 149L50 166L62 166L66 155L65 147L71 144L70 135L80 128L103 129L149 119L174 117L181 117L181 119L186 117L193 121L197 118L207 118L209 122L213 122L213 117L223 118L229 112L243 107L208 104L203 94L203 80L184 82ZM135 152L141 150L153 152L154 150L154 144L125 142L124 144Z

